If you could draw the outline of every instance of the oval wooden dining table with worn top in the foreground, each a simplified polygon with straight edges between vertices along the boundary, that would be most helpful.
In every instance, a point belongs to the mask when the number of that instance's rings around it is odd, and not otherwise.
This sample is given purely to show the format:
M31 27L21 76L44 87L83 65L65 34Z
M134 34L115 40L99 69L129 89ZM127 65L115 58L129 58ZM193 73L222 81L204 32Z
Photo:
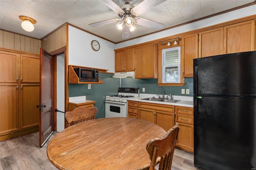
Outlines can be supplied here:
M150 165L147 143L164 134L164 129L142 119L94 119L56 134L48 144L47 156L63 170L143 169Z

